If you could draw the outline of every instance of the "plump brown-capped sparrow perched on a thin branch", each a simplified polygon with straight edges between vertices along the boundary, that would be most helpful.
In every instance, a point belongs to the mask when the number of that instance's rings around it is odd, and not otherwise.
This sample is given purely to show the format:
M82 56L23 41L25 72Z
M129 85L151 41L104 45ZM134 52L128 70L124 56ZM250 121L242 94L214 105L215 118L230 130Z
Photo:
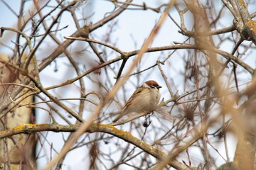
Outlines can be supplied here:
M159 103L161 96L159 92L160 88L161 86L154 80L144 82L142 86L139 86L139 88L134 91L122 110L117 112L118 116L113 122L117 122L117 120L129 113L153 112Z

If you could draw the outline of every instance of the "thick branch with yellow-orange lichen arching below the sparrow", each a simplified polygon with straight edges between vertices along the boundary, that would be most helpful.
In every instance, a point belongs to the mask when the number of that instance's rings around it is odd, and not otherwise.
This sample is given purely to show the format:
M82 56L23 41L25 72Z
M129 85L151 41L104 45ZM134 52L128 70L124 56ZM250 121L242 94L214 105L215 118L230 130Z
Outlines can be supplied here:
M0 131L0 139L4 139L5 137L11 137L13 135L18 134L32 134L35 132L44 132L44 131L52 131L52 132L75 132L80 128L80 125L56 125L56 124L26 124L21 125L16 128L12 128L9 130L1 130ZM114 135L119 137L122 140L125 140L132 145L139 147L140 149L144 150L145 152L151 154L153 157L157 159L164 159L169 157L161 150L152 147L151 145L139 140L137 137L134 137L129 132L124 132L123 130L118 130L110 125L104 125L99 123L92 123L90 127L87 128L86 132L105 132L110 135ZM169 164L176 169L188 169L184 164L178 162L176 159L172 160Z

